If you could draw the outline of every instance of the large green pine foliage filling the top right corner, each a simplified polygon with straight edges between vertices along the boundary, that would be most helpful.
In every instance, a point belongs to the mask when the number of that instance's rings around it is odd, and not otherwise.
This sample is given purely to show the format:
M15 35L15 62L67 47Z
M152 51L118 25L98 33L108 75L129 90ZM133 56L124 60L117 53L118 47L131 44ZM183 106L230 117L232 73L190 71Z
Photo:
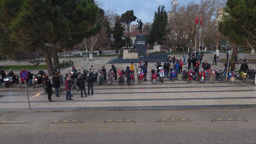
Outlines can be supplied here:
M247 45L249 41L253 41L250 33L255 34L255 10L255 0L228 0L218 31L236 45ZM236 47L234 48L236 51Z

